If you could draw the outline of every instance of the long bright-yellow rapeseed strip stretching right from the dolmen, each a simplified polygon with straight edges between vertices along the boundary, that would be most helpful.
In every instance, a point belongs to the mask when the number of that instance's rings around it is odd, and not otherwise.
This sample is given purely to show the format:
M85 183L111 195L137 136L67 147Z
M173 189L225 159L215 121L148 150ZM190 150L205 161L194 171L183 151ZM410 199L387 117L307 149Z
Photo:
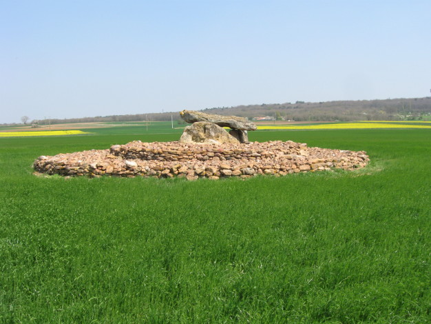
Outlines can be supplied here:
M327 123L317 125L258 126L257 130L348 130L361 128L431 128L431 125L407 125L397 123Z

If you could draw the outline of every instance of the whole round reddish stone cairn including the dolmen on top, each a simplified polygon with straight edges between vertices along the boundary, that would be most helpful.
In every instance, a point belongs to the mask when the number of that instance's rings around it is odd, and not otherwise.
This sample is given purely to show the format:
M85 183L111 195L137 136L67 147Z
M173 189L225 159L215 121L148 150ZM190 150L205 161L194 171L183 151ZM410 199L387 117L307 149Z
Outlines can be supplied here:
M355 170L368 164L366 152L308 148L293 141L249 142L247 130L256 126L240 117L224 117L184 110L181 117L192 125L180 141L112 145L55 156L39 156L36 174L61 176L184 177L220 179L258 174L284 176L341 168ZM229 127L228 133L222 127Z

